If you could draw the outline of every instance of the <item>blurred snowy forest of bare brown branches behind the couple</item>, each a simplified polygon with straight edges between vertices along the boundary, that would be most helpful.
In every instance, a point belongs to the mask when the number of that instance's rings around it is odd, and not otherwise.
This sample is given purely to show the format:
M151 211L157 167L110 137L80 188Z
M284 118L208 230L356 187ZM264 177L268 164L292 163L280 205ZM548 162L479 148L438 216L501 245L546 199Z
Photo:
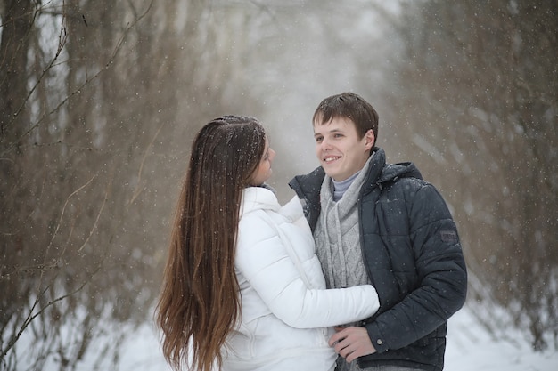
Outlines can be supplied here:
M152 320L193 134L258 117L284 201L343 91L447 199L480 320L558 347L557 8L0 0L0 370L118 365L119 325Z

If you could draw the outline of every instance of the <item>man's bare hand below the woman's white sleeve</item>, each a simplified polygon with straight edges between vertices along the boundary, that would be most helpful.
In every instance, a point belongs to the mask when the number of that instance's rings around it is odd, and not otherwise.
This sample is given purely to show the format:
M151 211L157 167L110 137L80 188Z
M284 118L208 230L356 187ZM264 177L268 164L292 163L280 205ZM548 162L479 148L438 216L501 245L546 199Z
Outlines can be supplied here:
M376 352L365 327L335 327L335 331L329 345L347 362Z

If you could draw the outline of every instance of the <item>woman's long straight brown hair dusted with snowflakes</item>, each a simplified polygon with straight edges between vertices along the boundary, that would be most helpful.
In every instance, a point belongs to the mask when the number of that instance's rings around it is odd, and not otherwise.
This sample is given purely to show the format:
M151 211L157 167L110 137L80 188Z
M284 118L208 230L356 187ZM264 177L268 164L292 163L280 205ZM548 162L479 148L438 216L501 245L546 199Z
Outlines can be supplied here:
M242 190L265 141L256 118L237 116L209 122L193 141L156 311L163 354L175 370L221 367L240 317L234 252Z

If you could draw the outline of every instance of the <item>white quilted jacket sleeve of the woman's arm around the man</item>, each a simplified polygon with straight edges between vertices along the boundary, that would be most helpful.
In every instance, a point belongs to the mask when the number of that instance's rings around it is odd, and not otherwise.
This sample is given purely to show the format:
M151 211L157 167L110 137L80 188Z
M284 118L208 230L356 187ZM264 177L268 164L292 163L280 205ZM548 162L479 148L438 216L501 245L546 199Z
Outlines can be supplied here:
M308 289L272 225L257 213L242 216L236 269L278 319L291 327L330 327L366 319L379 308L373 286Z

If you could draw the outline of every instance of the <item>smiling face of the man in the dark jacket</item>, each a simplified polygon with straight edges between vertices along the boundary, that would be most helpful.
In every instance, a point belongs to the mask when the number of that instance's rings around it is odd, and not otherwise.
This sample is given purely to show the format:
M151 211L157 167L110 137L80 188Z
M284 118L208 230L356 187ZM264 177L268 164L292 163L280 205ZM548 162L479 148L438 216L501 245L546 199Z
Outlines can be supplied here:
M357 127L349 118L334 117L324 124L317 118L314 122L316 157L334 181L344 181L360 171L370 157L373 131L358 139Z

